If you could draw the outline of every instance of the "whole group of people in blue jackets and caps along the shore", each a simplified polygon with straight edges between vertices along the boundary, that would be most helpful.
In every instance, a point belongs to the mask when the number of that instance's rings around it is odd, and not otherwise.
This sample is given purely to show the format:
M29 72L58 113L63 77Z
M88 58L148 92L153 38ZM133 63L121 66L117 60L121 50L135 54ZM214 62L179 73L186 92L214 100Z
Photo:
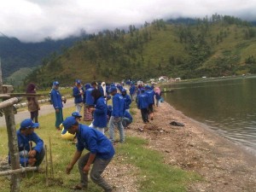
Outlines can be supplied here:
M130 95L121 84L105 84L104 82L84 84L80 80L75 81L73 87L73 97L76 112L73 115L63 119L63 102L66 102L59 91L59 82L52 84L50 100L55 109L55 128L63 131L61 134L75 135L77 138L76 152L73 159L67 166L69 174L73 166L79 161L80 183L73 186L73 189L88 188L88 173L90 171L91 180L104 189L112 191L112 187L102 178L102 172L112 160L114 154L113 143L115 143L114 129L119 131L119 143L125 142L125 128L132 123L130 113L131 102L136 99L137 108L141 110L144 123L148 119L153 120L154 97L159 95L148 85L136 86L131 84ZM112 105L108 105L108 100L112 97ZM82 115L80 112L84 107L84 120L91 120L91 124L80 124ZM85 114L90 113L89 116ZM18 146L20 151L21 166L39 166L44 159L44 141L34 132L38 127L32 119L24 119L20 124L20 130L17 131ZM105 130L108 127L109 137L105 136ZM32 143L36 143L32 147ZM89 152L82 156L83 150ZM93 165L90 169L90 166Z

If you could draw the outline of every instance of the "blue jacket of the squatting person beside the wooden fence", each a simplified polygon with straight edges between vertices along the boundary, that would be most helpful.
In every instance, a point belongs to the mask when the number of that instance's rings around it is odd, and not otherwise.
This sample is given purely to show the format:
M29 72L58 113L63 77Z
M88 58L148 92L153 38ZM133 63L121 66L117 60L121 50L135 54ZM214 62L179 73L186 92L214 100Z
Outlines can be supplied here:
M43 140L38 137L38 135L33 132L32 135L24 136L20 133L20 130L16 131L17 133L17 139L18 139L18 148L19 151L23 151L24 149L26 151L30 150L29 142L32 141L33 143L36 143L37 145L33 148L38 153L41 152L41 150L44 148L44 142ZM28 164L28 157L20 157L20 164L22 166L25 166L25 164Z

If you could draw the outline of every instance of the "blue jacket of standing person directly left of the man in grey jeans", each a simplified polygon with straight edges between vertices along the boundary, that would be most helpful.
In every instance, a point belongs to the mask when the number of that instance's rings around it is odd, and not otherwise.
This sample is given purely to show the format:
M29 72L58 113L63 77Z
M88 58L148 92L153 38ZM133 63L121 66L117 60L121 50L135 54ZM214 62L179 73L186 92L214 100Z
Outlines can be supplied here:
M95 106L96 110L93 113L93 122L92 124L94 126L100 127L100 128L104 128L107 127L107 102L104 99L104 97L100 97L96 100L96 106Z

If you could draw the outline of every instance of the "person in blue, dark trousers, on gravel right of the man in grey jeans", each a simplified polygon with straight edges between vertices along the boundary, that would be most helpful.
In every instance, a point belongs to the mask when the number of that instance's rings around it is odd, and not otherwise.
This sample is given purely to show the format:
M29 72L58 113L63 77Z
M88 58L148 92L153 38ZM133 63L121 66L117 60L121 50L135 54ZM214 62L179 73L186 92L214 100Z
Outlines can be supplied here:
M141 94L137 97L137 108L141 109L143 122L148 123L148 95L145 93L144 88L141 88Z

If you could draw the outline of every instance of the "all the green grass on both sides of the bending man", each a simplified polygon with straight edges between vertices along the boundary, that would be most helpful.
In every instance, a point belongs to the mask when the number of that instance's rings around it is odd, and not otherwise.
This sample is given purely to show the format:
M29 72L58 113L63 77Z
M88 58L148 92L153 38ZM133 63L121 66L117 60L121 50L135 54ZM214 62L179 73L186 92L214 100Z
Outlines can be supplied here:
M65 108L64 117L72 113L74 108ZM131 110L135 113L135 110ZM50 180L50 186L46 186L45 173L28 172L23 176L20 183L20 189L23 191L70 191L69 187L79 183L79 171L77 165L74 166L70 175L66 174L66 167L76 150L71 141L63 140L61 132L55 130L55 114L49 113L39 119L40 129L36 132L44 140L44 144L49 148L49 137L52 146L52 155L54 163L55 179ZM19 125L16 126L19 128ZM8 154L7 131L0 128L0 160L3 160ZM146 148L147 141L137 137L126 137L126 143L118 145L116 148L116 157L122 156L124 161L118 163L129 163L138 167L139 176L137 179L139 191L186 191L186 185L199 177L195 173L184 172L183 170L165 165L163 156L154 150ZM84 152L85 153L85 152ZM49 155L48 155L49 156ZM115 158L116 158L115 157ZM45 161L40 166L45 170ZM102 189L90 181L89 188L91 192L100 192ZM9 191L9 180L6 177L0 177L0 191Z

